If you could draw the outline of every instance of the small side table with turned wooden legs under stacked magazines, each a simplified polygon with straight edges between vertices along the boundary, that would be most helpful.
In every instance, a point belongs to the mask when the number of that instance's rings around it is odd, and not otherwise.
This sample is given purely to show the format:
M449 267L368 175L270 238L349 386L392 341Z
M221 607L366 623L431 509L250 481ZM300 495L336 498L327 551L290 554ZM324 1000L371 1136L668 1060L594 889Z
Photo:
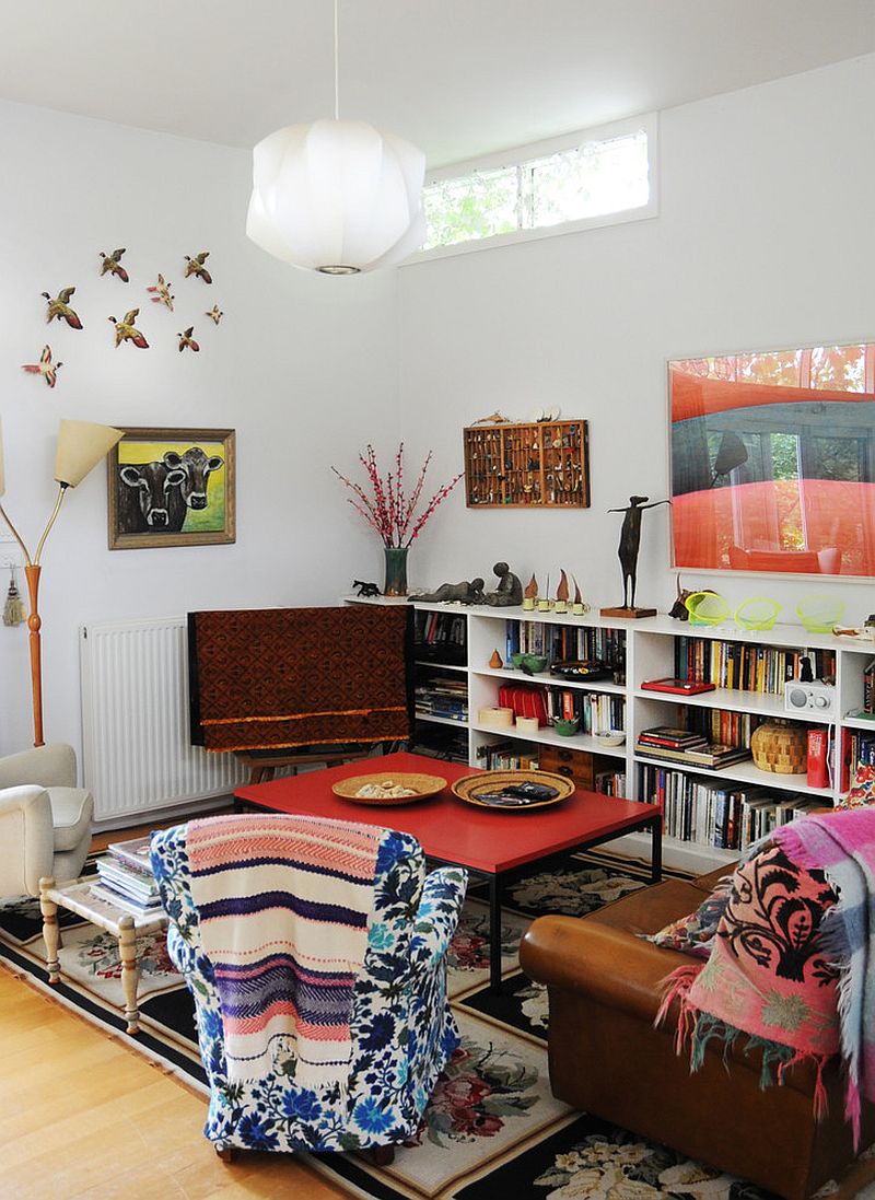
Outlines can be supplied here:
M139 1009L137 1008L137 985L139 983L139 964L137 962L137 938L145 934L155 934L166 929L168 917L163 908L148 917L132 917L124 908L116 907L109 900L103 900L91 892L89 882L76 880L55 887L49 876L40 880L40 911L42 912L42 936L46 941L46 967L48 982L55 984L61 978L61 965L58 960L60 943L58 929L58 906L78 913L85 920L104 929L119 940L121 955L121 988L125 992L125 1019L127 1032L139 1031Z

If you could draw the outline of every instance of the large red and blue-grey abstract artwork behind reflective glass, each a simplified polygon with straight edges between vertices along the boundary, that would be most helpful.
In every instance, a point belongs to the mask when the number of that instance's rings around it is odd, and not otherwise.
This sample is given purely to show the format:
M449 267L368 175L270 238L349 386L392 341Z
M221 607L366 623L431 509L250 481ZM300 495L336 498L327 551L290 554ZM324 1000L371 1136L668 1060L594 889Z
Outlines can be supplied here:
M875 576L875 343L669 364L673 565Z

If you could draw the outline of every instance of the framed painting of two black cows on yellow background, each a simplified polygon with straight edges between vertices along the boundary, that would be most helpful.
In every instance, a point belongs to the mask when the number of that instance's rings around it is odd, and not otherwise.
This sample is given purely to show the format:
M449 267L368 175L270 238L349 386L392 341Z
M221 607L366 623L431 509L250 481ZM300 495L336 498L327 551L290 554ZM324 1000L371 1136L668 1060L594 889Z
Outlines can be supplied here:
M236 540L234 430L127 427L107 456L110 550Z

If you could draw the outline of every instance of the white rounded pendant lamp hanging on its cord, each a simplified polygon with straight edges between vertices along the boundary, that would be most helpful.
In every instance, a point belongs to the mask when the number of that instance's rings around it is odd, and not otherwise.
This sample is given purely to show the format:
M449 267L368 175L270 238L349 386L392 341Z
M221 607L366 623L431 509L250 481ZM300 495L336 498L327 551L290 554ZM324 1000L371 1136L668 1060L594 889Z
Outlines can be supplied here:
M254 148L246 234L294 266L354 275L421 245L425 155L365 121L340 120L337 0L334 79L334 120L289 125Z

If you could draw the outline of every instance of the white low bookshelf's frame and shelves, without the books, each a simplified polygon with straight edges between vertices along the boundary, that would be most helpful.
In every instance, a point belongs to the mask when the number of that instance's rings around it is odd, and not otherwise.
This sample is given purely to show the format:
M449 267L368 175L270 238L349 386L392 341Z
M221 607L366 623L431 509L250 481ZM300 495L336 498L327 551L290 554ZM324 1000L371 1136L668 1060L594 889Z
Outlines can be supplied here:
M380 598L359 600L347 598L348 602L383 604ZM687 763L640 756L635 752L637 734L654 725L679 724L678 708L723 709L730 713L748 713L757 718L790 716L805 725L820 726L827 731L835 746L841 745L844 730L871 732L875 734L875 720L850 715L863 707L863 673L867 664L875 659L875 642L856 638L834 637L831 634L809 634L802 625L774 625L767 631L744 630L733 622L721 625L690 625L688 622L673 620L670 617L657 616L640 620L603 618L597 613L582 617L571 613L525 611L522 607L493 608L487 605L441 605L413 601L420 611L450 612L462 616L466 622L467 664L441 664L433 660L424 662L428 668L448 672L463 672L468 683L467 722L444 721L461 726L468 732L468 761L472 766L483 762L484 746L498 740L513 738L521 744L537 743L556 745L570 750L589 751L599 755L605 763L616 763L625 770L627 794L639 799L639 767L643 764L661 766L683 772L685 775L703 779L732 781L739 785L767 787L775 793L796 792L822 800L823 805L837 802L840 797L840 780L834 778L826 788L808 786L805 775L780 775L760 770L751 760L733 763L721 770L708 770ZM567 625L571 628L613 629L625 636L625 677L622 682L576 683L550 674L549 668L534 676L516 671L513 667L491 667L490 658L498 650L502 659L507 658L507 622L538 622L544 625ZM675 642L678 637L711 638L715 642L737 642L754 646L768 646L777 649L792 649L802 653L815 649L832 650L835 654L834 704L827 712L805 710L787 713L783 695L769 695L759 691L730 690L725 688L702 692L695 696L670 692L645 691L645 680L671 677L675 674ZM625 702L624 745L606 748L594 738L577 733L562 737L552 728L541 728L538 733L520 733L516 728L496 730L484 727L478 721L481 708L498 706L498 689L505 683L540 684L547 688L577 689L581 691L601 692L621 696ZM838 755L837 755L838 758ZM835 772L838 775L838 772ZM649 839L646 835L631 835L615 844L630 852L646 854ZM723 851L699 842L679 841L666 838L664 841L665 860L669 865L685 866L693 870L707 870L721 862L737 857L737 851Z

